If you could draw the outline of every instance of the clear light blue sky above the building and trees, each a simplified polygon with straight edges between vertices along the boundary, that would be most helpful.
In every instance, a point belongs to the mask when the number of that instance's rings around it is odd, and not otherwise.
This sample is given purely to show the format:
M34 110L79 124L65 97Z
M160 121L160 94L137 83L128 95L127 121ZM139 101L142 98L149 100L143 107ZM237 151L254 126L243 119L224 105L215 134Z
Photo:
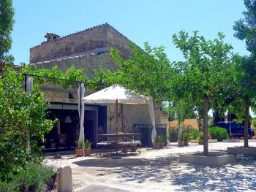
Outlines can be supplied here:
M46 32L61 36L109 23L140 47L164 45L170 61L182 60L171 43L180 30L200 31L208 39L226 35L234 52L246 54L244 42L233 37L233 23L244 11L242 0L14 0L12 50L15 64L29 63L29 48L45 41Z

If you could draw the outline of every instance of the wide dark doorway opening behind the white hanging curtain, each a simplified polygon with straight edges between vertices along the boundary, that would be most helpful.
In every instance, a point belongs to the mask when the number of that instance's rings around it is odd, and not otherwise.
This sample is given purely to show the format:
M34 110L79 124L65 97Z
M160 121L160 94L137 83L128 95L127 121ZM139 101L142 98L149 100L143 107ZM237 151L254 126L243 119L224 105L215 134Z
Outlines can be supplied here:
M50 133L45 135L46 141L41 145L46 150L71 150L77 145L79 139L80 123L78 106L75 104L52 104L58 109L49 109L48 118L58 119ZM85 139L97 142L97 108L86 106L84 116Z

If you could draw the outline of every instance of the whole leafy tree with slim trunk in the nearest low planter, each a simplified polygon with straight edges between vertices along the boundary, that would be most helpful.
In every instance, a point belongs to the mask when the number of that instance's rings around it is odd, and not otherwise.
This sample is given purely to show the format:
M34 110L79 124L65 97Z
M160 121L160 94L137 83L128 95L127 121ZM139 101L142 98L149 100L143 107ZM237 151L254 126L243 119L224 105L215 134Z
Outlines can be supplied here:
M185 31L173 35L173 43L184 55L184 62L176 62L173 67L181 78L173 80L173 93L178 98L189 99L195 107L203 103L204 155L208 155L208 110L210 101L221 96L223 88L230 84L232 76L231 45L223 42L224 35L206 40L194 31L192 37ZM182 91L181 91L182 90Z

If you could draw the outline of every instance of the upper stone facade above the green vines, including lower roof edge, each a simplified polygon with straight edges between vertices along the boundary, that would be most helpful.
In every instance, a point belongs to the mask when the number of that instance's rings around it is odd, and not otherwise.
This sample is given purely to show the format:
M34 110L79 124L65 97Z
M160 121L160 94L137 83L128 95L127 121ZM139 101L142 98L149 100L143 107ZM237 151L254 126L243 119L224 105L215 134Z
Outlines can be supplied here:
M56 65L62 72L75 66L92 78L94 69L99 69L99 66L111 71L117 69L110 58L110 49L113 47L119 50L124 59L129 58L131 50L127 37L105 23L31 47L30 64L47 69Z

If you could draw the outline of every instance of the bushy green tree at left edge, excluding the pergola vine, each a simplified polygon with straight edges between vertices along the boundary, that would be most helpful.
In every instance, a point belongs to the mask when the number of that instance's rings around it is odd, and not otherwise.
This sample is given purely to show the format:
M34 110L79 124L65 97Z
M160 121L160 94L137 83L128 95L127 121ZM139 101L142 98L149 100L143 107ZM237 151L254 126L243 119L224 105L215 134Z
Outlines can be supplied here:
M10 69L0 77L0 172L1 180L10 180L27 162L39 161L38 141L53 127L46 118L48 103L37 86L27 96L22 91L23 77ZM26 153L26 129L29 130L31 154Z

